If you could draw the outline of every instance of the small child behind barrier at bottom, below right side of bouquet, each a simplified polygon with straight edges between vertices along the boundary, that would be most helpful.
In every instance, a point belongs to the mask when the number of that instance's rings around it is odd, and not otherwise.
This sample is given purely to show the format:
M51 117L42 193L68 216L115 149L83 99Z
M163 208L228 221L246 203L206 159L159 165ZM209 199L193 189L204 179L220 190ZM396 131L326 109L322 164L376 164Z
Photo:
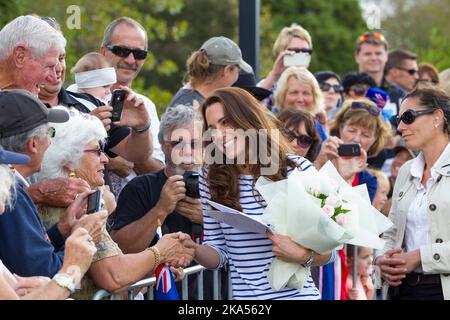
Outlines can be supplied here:
M347 277L348 300L372 300L374 285L372 282L373 250L366 247L357 247L356 285L353 286L354 274L354 250L355 246L347 245L347 265L349 274Z

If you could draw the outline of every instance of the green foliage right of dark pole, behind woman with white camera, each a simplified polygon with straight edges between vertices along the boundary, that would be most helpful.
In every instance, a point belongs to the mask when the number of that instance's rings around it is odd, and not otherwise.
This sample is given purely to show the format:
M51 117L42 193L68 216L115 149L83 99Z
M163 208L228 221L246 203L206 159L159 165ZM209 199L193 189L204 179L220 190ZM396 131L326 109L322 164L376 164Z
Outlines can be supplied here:
M292 23L311 34L311 71L333 70L343 75L356 69L355 39L367 28L358 0L262 0L261 76L272 68L272 47L278 33Z

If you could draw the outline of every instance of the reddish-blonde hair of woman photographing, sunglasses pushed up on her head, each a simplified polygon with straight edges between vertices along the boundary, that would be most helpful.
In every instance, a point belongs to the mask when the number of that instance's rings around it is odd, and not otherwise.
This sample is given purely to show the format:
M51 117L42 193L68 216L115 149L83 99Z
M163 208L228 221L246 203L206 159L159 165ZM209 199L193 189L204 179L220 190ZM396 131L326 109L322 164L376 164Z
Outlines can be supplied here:
M373 130L376 140L367 150L367 153L370 156L376 156L384 148L387 139L391 135L390 126L382 119L381 115L373 116L368 110L362 108L353 109L353 102L361 102L369 105L374 110L378 110L378 106L367 98L345 100L341 109L330 122L330 135L340 137L339 131L345 125L357 125Z

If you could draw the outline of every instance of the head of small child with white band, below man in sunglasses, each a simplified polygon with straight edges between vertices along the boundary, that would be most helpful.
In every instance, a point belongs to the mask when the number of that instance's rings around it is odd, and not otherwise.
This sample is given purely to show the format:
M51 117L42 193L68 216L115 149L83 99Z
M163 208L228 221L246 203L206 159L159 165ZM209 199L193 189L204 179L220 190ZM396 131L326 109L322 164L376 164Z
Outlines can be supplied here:
M81 57L71 72L75 74L75 84L67 90L89 93L105 103L111 94L111 86L117 81L116 70L104 56L96 52Z

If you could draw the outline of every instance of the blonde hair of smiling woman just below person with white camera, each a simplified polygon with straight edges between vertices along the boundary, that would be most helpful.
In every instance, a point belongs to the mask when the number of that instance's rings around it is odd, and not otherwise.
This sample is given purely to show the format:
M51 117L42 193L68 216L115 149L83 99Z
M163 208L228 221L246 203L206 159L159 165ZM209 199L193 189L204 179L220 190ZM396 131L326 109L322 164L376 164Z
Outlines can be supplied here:
M325 100L323 97L322 90L320 90L319 83L317 82L314 75L303 67L289 67L281 74L280 79L277 82L277 89L275 90L275 105L284 109L284 103L286 99L286 93L288 91L288 81L290 78L295 78L302 84L311 86L314 105L311 110L308 110L312 115L315 115L320 110L324 109Z

